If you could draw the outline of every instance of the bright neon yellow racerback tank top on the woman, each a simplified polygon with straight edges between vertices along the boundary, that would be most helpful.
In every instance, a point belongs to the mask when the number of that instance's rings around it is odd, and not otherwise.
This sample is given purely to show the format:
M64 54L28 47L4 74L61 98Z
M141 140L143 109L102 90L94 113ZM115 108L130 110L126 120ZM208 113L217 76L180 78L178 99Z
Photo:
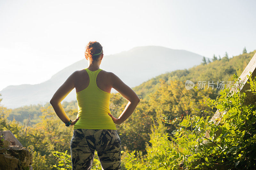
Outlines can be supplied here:
M102 69L90 71L89 85L84 90L76 92L78 114L80 117L74 129L115 129L116 124L108 115L110 93L101 90L96 84L96 77Z

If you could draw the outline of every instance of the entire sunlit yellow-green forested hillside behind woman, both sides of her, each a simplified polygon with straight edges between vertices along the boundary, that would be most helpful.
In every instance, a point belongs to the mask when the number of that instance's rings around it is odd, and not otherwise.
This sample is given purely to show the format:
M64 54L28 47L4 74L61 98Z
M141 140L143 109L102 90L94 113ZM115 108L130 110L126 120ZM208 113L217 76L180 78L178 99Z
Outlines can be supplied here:
M163 118L162 114L166 115L165 121L169 121L168 119L170 119L170 117L171 119L180 117L180 119L175 120L180 121L181 123L183 119L187 120L189 116L199 116L203 125L203 121L207 116L212 116L216 111L216 106L209 107L203 102L213 101L212 99L215 99L216 96L220 94L220 89L205 88L201 90L186 90L186 80L191 80L193 82L232 80L233 74L239 76L242 73L255 52L256 50L233 58L224 57L210 63L202 63L189 70L177 70L162 74L135 87L134 91L141 98L140 103L131 117L121 125L116 125L122 141L122 150L124 151L122 153L122 169L125 169L125 166L126 169L129 169L134 162L137 162L133 161L132 163L131 161L134 160L135 157L133 154L129 155L127 153L134 151L132 153L135 153L137 156L136 159L140 160L140 163L134 167L143 169L140 167L147 166L149 160L158 161L158 163L160 161L156 159L156 155L150 156L150 153L156 152L152 146L156 148L157 146L160 147L164 144L169 146L170 143L168 142L170 141L172 142L170 146L176 146L173 140L175 133L173 133L173 135L172 132L175 129L180 129L180 127L177 128L177 126L170 126L170 124L166 123L163 124L161 121ZM237 100L238 98L236 98L234 102ZM118 117L124 110L127 102L128 101L119 93L111 93L111 114ZM74 120L77 115L76 101L63 102L62 105L67 115ZM226 106L227 105L225 105L225 107ZM246 112L246 110L244 112ZM29 115L30 120L28 122ZM7 119L8 116L9 120ZM12 120L13 117L15 117L15 119ZM198 123L199 118L198 120L194 117L193 119L191 118L191 124L196 123L196 121ZM17 121L22 123L18 123ZM189 126L188 121L189 119L187 120L187 124L182 126ZM67 154L70 154L70 140L73 128L67 128L64 123L60 121L50 103L47 103L44 106L31 105L13 110L0 106L0 122L0 130L11 130L18 140L33 153L34 169L55 169L52 165L56 163L58 164L59 160L52 154L53 151L65 152L68 150ZM201 128L204 129L204 127ZM164 136L165 133L167 133L169 137ZM181 132L177 133L179 135ZM156 140L156 135L160 135L159 140ZM192 133L192 135L195 134ZM178 143L178 141L176 142ZM183 146L185 147L184 143ZM168 149L167 146L166 148ZM152 150L152 152L149 152L150 150ZM180 149L180 152L181 150L182 149ZM163 150L161 150L161 152L162 151ZM166 151L169 152L171 150ZM159 150L159 153L161 152ZM172 152L174 152L174 150ZM178 151L175 150L175 152ZM209 154L209 152L210 151L205 151L205 154ZM188 154L191 153L192 152L188 152ZM181 156L178 159L177 153L175 158L176 157L177 162L173 161L172 164L180 163ZM184 155L183 158L185 159ZM196 156L193 158L196 159ZM205 160L206 159L204 159L204 162ZM163 161L166 160L163 158ZM94 169L97 169L97 164L95 163L96 162L94 162ZM165 168L164 166L167 165L167 163L162 164L160 162L159 165L155 165L159 167L156 169L161 169L162 167Z

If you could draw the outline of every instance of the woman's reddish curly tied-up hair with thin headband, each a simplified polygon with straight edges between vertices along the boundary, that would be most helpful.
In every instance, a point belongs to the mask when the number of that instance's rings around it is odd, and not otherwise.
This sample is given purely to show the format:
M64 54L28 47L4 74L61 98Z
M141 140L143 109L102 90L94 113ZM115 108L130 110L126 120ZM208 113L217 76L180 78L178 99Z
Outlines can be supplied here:
M91 58L91 61L93 62L95 60L98 60L99 57L101 56L101 54L103 54L103 51L102 51L102 53L100 53L101 50L102 50L102 46L100 45L99 42L90 41L85 47L84 55ZM98 53L100 53L100 54L99 55L94 55L94 54L98 54Z

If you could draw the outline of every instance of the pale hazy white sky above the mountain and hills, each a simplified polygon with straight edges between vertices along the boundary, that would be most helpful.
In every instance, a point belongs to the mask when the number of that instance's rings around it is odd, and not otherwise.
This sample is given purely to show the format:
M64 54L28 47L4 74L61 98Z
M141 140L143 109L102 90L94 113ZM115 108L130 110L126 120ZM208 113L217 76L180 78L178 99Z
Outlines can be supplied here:
M0 91L48 80L85 59L89 41L99 41L105 56L147 45L206 57L238 55L244 46L253 51L255 6L253 0L1 0Z

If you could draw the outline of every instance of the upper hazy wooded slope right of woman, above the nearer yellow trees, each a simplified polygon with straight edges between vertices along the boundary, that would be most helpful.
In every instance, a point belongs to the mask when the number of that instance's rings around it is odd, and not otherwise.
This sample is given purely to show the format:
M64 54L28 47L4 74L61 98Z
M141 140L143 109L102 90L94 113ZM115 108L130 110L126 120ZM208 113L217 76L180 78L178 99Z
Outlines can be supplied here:
M237 55L232 58L223 57L218 59L217 57L213 57L211 60L212 62L210 63L202 63L201 65L195 66L188 70L176 70L166 74L161 74L142 83L141 85L134 87L133 89L141 98L147 99L148 94L156 91L156 89L159 87L160 79L163 79L164 81L180 80L183 82L184 86L186 80L191 80L194 83L197 81L228 81L232 79L233 74L238 75L238 77L241 75L255 52L256 50L250 53ZM217 90L216 94L219 90L220 89Z

